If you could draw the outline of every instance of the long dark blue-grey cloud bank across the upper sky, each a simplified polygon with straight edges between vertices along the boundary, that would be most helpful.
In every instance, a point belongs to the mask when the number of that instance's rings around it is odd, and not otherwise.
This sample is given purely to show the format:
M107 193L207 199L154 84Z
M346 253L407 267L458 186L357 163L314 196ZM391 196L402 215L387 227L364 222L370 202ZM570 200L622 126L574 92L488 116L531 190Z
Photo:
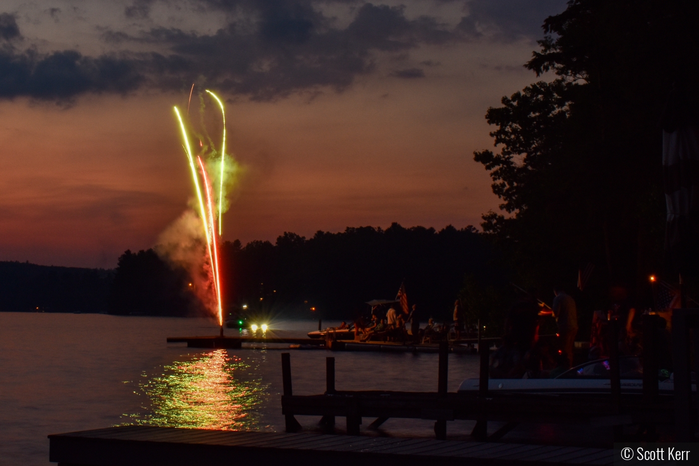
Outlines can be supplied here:
M135 0L124 13L146 17L152 0ZM406 54L423 44L460 40L459 32L433 17L405 17L403 6L358 3L345 28L334 25L315 0L199 0L205 8L231 13L214 34L155 27L140 34L103 29L102 38L120 48L152 44L166 52L86 57L64 50L38 55L0 52L0 98L18 96L69 100L86 92L129 92L148 85L179 90L189 83L229 94L268 100L321 87L343 90L356 76L375 69L377 52ZM235 14L233 14L235 13ZM12 15L10 36L20 31ZM10 21L11 20L11 21ZM14 32L13 32L14 31ZM418 78L421 69L394 76Z

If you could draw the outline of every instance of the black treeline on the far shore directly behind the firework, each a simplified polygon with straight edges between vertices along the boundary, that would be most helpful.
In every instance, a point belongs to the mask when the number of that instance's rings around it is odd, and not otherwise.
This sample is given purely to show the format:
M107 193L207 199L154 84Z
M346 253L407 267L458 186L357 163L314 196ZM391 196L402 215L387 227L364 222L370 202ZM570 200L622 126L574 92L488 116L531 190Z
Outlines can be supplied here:
M226 241L221 250L226 313L245 305L248 312L291 318L353 318L370 299L394 299L405 283L411 305L445 318L467 275L502 277L473 227L436 231L394 223L386 230L319 231L310 239L285 232L275 243ZM115 271L110 312L199 315L189 281L152 249L127 251Z

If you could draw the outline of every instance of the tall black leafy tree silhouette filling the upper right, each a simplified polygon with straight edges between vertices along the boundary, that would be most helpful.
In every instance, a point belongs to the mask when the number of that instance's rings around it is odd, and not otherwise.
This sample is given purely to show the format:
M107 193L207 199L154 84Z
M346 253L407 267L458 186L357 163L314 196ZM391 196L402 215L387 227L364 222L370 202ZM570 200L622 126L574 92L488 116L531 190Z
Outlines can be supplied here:
M497 150L474 154L503 202L483 230L521 285L549 295L563 281L572 291L592 264L579 295L591 312L652 306L651 274L677 283L663 246L660 121L673 87L699 108L698 87L687 85L699 63L697 17L696 1L572 0L544 21L525 66L549 79L489 108ZM696 276L697 264L682 276Z

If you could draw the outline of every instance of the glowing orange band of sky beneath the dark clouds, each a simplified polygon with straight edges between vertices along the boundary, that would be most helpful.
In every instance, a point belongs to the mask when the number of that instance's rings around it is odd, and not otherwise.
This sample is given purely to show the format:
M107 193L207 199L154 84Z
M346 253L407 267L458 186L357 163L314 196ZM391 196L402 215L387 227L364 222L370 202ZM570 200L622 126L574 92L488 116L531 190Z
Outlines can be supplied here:
M21 23L20 23L21 26ZM484 120L535 80L531 38L423 45L424 78L391 76L391 57L342 92L271 101L225 95L229 151L244 167L224 239L312 236L347 226L478 225L497 209L473 150ZM0 101L0 260L114 267L154 245L192 197L172 111L186 92L85 94L66 108Z

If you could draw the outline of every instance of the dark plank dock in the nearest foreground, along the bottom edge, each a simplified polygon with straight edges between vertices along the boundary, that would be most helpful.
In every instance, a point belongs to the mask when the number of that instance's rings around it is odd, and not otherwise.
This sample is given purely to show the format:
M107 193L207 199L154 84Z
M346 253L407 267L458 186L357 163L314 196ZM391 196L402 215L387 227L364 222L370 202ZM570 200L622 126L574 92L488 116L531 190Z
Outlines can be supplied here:
M121 426L49 435L59 466L612 465L614 450L394 437Z

